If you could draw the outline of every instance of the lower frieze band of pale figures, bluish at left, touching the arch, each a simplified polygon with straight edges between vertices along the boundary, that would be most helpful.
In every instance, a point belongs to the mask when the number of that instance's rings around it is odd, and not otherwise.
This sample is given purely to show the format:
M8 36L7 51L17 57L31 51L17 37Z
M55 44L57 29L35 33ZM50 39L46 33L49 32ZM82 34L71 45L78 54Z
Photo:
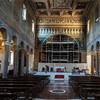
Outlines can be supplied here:
M72 38L82 39L82 28L39 28L38 38L40 41L44 41L47 37L55 34L65 34Z

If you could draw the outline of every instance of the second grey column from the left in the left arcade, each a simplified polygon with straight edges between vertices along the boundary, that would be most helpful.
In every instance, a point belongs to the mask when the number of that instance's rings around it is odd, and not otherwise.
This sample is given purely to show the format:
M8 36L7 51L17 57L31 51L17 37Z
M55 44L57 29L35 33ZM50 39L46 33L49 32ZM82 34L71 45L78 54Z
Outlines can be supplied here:
M19 63L18 45L14 45L14 77L18 76L18 63Z

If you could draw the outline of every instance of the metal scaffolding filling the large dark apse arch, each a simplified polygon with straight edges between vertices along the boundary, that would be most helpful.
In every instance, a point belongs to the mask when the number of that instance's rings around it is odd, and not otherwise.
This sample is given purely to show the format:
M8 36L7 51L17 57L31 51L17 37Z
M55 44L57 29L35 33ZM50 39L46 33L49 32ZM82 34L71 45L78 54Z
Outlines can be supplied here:
M66 35L50 37L41 45L40 62L79 63L80 52L78 43Z

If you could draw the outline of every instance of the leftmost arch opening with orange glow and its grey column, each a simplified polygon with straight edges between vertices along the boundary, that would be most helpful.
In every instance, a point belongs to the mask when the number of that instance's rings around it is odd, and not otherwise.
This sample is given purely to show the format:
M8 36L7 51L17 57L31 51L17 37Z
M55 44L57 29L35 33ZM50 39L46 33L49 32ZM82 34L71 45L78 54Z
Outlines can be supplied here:
M0 73L3 78L7 78L8 72L8 48L9 48L9 34L8 30L0 27Z

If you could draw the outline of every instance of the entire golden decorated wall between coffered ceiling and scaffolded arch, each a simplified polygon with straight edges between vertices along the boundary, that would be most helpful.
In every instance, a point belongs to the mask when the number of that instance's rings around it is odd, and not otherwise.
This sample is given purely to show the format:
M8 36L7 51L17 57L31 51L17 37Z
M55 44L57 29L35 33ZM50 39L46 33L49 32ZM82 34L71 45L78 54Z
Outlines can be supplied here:
M43 43L50 36L64 34L75 39L80 46L84 46L82 43L85 41L85 26L85 20L81 17L39 17L38 39Z

